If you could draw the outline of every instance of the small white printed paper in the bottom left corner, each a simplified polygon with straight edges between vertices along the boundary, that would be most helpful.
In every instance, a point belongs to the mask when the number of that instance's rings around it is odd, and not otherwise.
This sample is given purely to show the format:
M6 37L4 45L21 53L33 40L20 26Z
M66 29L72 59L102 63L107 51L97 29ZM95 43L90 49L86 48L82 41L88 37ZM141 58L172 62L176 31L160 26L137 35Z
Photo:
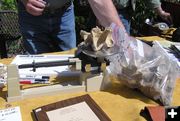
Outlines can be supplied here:
M22 121L20 107L0 110L0 121Z

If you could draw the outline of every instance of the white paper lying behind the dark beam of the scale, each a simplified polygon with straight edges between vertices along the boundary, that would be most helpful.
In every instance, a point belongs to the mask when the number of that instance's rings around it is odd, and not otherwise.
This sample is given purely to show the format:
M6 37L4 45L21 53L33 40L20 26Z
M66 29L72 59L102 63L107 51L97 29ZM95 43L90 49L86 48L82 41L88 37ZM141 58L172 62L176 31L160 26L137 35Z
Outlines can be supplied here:
M72 54L68 55L17 55L11 64L21 65L21 64L32 64L35 62L48 62L48 61L59 61L67 60L69 57L74 57ZM66 72L69 67L66 66L55 66L55 67L41 67L37 68L36 72L32 71L32 68L19 69L20 77L21 75L59 75L61 72Z

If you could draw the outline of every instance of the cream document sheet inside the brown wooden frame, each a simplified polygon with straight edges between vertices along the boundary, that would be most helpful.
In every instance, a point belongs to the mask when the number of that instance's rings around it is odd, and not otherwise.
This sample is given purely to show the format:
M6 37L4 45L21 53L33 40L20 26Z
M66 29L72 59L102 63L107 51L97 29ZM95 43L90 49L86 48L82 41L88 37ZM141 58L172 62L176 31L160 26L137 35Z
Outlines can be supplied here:
M46 112L50 121L100 121L86 102Z

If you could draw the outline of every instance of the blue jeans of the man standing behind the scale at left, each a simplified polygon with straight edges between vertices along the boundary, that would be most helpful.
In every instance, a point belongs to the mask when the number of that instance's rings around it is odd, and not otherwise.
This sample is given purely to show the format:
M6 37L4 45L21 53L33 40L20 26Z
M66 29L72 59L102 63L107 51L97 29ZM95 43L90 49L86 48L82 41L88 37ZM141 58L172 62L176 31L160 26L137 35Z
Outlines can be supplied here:
M74 6L54 14L32 16L18 3L23 44L29 54L69 50L76 47Z

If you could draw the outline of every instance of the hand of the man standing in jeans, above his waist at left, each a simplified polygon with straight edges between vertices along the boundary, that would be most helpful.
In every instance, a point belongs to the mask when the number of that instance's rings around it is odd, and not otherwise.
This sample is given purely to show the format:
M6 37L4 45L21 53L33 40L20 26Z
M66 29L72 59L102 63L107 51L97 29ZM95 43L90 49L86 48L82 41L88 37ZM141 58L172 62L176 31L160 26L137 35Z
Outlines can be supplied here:
M21 0L24 4L26 11L34 16L42 14L46 7L46 2L43 0Z

